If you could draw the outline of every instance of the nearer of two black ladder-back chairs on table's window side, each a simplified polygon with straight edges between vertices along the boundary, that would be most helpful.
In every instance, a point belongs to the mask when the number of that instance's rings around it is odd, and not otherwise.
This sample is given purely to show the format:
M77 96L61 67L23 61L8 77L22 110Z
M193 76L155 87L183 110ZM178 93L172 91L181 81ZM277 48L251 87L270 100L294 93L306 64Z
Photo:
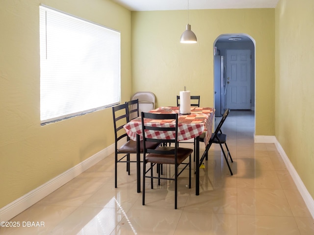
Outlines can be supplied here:
M131 103L131 102L129 102ZM112 107L113 127L114 127L114 145L115 145L115 164L114 164L114 187L117 188L117 164L126 163L127 171L130 175L130 163L136 163L137 161L131 161L130 154L136 154L136 141L130 140L123 126L130 121L129 103L120 104ZM119 146L119 141L126 139L126 142ZM158 143L149 142L146 144L151 148L156 148ZM140 141L140 153L143 153L143 141ZM120 158L118 157L121 156Z

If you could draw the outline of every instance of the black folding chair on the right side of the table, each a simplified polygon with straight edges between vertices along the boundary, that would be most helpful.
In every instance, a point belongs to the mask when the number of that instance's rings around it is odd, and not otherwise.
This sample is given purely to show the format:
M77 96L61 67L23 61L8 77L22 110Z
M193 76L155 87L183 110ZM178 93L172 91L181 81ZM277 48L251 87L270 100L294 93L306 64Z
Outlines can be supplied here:
M224 115L222 116L216 130L214 133L211 134L211 137L210 137L210 140L209 140L209 143L206 145L206 149L205 149L205 152L203 154L203 156L201 157L200 159L200 165L203 163L204 159L206 158L207 160L207 157L208 157L208 151L209 151L209 148L211 146L211 144L213 143L218 143L220 145L220 148L221 148L221 151L224 155L224 158L226 160L226 163L228 165L228 168L229 168L229 171L230 171L230 174L233 175L233 172L231 170L231 167L229 165L229 162L228 162L228 158L230 157L230 160L231 162L233 163L234 161L232 160L232 157L231 157L231 154L230 154L230 151L229 151L229 148L228 148L228 145L227 145L227 135L226 134L223 134L222 131L221 131L221 127L222 127L222 124L225 122L228 114L230 113L230 109L226 109ZM206 133L202 133L202 135L200 135L200 141L201 142L204 142L205 141L205 135ZM227 149L227 155L225 153L225 150L222 146L222 144L225 144L226 146L226 149Z

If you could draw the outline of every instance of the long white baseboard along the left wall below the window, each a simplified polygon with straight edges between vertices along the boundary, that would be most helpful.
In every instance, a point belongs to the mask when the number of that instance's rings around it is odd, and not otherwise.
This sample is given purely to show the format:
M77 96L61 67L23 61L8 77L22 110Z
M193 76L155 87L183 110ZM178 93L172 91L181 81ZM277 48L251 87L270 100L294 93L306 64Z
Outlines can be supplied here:
M32 191L26 193L24 196L18 198L17 200L1 208L0 221L8 221L14 216L21 213L22 211L25 211L27 208L31 207L36 202L43 199L57 188L60 188L64 184L68 183L70 180L74 179L83 171L87 170L89 167L103 160L105 157L107 157L113 152L114 144L101 150L100 152L94 154L93 156L77 164L71 169L68 169L62 174L54 177L52 180L46 182L40 187L33 189Z

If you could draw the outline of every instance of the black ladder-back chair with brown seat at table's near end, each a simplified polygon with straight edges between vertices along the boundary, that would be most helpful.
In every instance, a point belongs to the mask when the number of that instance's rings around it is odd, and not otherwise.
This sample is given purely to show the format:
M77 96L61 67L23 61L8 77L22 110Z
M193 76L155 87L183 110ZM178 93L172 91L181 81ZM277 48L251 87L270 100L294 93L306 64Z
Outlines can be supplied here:
M156 127L156 125L148 125L146 119L154 120L175 120L175 126L172 127ZM146 178L151 179L151 188L153 189L153 179L158 179L158 185L160 185L160 180L173 180L175 184L175 209L177 209L177 197L178 197L178 176L183 172L183 170L189 168L189 188L191 188L191 154L192 149L189 148L180 148L178 146L178 114L152 114L152 113L141 113L142 119L142 133L144 140L144 153L143 153L143 205L145 205L145 181ZM163 138L159 139L157 135L150 135L149 131L154 132L171 132L173 138L165 139L165 135L162 135ZM174 135L173 135L174 134ZM151 148L146 143L156 142L162 144L157 148ZM173 143L174 146L164 146L163 143ZM185 162L186 159L189 159L188 162ZM146 169L146 164L150 163L148 169ZM153 166L170 164L174 165L174 173L167 172L168 175L162 177L160 175L160 170L157 171L157 176L153 174ZM179 169L179 165L184 165Z

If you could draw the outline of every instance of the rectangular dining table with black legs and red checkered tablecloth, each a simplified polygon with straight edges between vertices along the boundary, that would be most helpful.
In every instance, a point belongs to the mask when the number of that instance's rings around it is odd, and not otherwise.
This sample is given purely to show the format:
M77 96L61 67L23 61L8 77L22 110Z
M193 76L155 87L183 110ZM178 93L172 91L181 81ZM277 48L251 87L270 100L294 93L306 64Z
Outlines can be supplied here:
M190 140L195 138L195 194L199 195L200 193L200 141L199 136L205 132L205 146L208 144L211 133L212 133L212 124L215 110L211 107L191 107L190 114L180 114L179 107L158 107L149 111L149 113L154 114L179 114L178 117L178 141ZM162 126L168 122L156 122L154 120L146 120L151 122L148 124L155 126ZM173 123L175 125L175 121ZM141 191L141 172L140 172L140 141L143 140L142 133L142 123L141 117L134 118L126 125L124 125L128 136L131 140L136 141L137 153L136 153L136 163L137 163L137 192ZM164 133L152 133L155 136L160 136L160 138L171 139L171 135L164 136Z

